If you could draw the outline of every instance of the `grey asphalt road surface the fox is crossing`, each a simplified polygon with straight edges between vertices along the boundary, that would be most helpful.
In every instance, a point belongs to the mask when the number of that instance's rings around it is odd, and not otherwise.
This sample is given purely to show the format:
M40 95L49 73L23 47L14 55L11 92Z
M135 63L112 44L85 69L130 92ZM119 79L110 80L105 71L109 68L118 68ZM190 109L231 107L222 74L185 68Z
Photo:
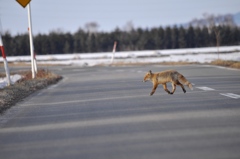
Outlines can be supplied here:
M240 71L213 66L50 67L64 76L0 117L4 159L239 159ZM153 96L145 72L194 84ZM169 89L171 86L169 85Z

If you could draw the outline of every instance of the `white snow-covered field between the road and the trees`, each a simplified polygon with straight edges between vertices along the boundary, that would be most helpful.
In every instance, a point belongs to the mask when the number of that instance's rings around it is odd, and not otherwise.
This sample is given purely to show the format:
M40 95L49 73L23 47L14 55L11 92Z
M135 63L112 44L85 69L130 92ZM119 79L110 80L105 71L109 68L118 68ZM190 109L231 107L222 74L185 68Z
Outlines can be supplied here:
M152 51L116 52L114 63L158 63L158 62L199 62L209 63L213 60L240 61L240 46L169 49ZM104 53L74 53L37 56L38 64L61 64L78 66L108 65L112 62L112 52ZM7 57L9 62L30 62L29 56ZM2 59L0 59L2 61Z

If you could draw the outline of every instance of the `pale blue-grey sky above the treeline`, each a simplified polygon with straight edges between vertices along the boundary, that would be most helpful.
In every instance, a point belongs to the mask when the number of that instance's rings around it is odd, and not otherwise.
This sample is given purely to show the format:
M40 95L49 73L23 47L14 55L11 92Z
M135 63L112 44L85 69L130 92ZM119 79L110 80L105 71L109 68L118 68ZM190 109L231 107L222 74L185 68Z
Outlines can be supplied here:
M189 22L203 13L235 14L240 0L32 0L33 34L61 29L76 32L88 22L97 22L99 31L122 29L131 21L134 27L151 28ZM27 7L16 0L0 0L3 31L25 33ZM1 28L0 26L0 28Z

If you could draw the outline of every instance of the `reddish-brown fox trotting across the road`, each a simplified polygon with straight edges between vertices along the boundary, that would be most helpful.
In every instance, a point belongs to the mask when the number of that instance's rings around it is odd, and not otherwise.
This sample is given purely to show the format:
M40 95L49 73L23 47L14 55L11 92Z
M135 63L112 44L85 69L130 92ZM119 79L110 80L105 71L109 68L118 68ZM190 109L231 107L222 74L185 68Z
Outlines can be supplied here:
M153 89L150 95L154 94L159 84L163 85L163 89L168 94L173 94L175 92L176 85L181 86L184 93L186 93L186 90L183 85L186 85L191 90L193 90L192 84L182 74L178 73L175 70L167 70L158 73L152 73L152 71L150 70L148 73L146 73L143 82L146 82L148 80L153 83ZM172 92L167 89L168 82L172 83Z

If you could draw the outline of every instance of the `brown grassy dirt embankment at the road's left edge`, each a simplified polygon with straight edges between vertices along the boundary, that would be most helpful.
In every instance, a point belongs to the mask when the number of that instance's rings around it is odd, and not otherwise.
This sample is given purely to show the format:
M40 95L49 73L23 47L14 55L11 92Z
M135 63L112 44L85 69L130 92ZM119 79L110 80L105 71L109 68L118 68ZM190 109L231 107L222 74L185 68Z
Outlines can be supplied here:
M0 113L29 96L31 93L55 84L62 79L61 76L46 71L38 70L36 78L32 79L31 71L19 72L23 78L14 85L0 89Z

